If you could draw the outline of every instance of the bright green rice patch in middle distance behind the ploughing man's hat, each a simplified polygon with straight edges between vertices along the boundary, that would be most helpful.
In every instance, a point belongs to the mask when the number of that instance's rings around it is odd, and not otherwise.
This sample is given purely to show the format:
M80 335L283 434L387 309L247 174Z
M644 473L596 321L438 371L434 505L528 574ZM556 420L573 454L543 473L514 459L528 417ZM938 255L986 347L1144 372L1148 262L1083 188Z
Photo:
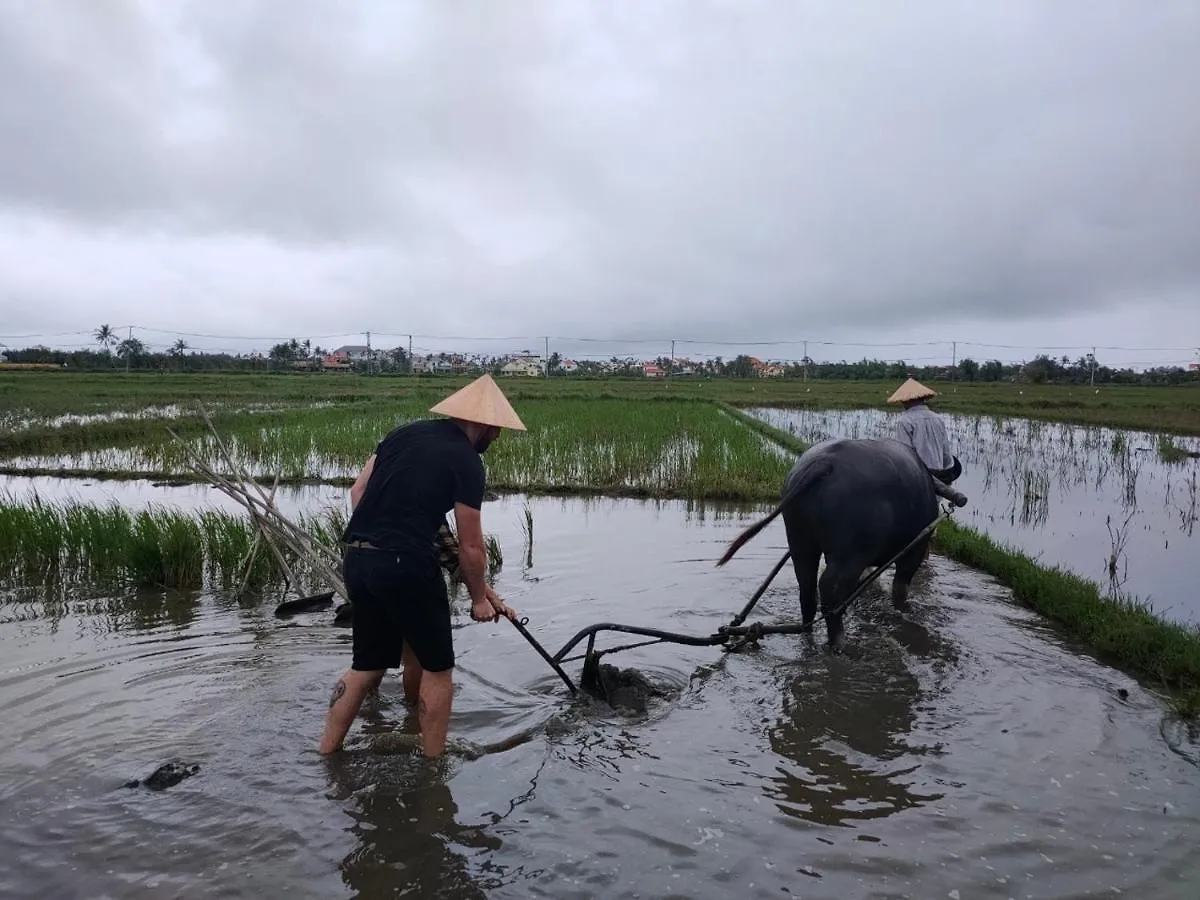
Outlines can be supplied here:
M283 482L352 480L396 425L426 415L425 401L336 409L286 410L218 420L238 469ZM710 403L526 401L529 431L509 433L487 452L488 486L538 493L613 493L642 497L766 499L790 464L778 446ZM194 479L191 454L217 461L217 438L194 428L182 446L161 436L125 446L90 448L70 461L80 469L125 469L156 478ZM58 458L20 462L60 464ZM226 473L229 474L229 473Z

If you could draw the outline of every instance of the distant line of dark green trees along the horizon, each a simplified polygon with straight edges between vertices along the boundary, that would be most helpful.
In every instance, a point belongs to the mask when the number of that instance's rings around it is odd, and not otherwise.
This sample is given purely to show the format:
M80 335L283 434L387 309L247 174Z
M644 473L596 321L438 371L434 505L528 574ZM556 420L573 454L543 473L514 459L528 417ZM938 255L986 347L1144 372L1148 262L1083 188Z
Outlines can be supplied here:
M191 349L182 341L167 350L151 350L138 338L126 338L115 348L58 350L48 347L8 348L4 359L18 364L49 364L73 371L155 371L155 372L302 372L296 362L312 359L322 350L310 350L302 343L299 353L290 346L276 346L270 353L211 353ZM452 354L442 358L462 359ZM314 360L316 361L316 360ZM377 353L371 360L355 360L352 372L371 374L408 374L409 365L403 350ZM503 358L474 358L468 364L456 366L455 373L498 374ZM643 377L646 362L635 359L581 360L570 370L564 367L559 354L548 360L548 374L554 378L604 378ZM954 382L1010 382L1025 384L1200 384L1200 371L1182 366L1160 366L1138 371L1100 365L1086 356L1074 361L1067 356L1054 359L1039 355L1025 364L986 360L983 362L964 359L954 366L911 365L904 360L869 360L857 362L816 362L812 360L762 364L760 360L739 355L731 360L720 356L706 361L671 360L659 358L652 361L666 377L673 378L810 378L815 380L896 380L907 377L920 380ZM305 374L323 374L316 366ZM419 377L436 377L420 373Z

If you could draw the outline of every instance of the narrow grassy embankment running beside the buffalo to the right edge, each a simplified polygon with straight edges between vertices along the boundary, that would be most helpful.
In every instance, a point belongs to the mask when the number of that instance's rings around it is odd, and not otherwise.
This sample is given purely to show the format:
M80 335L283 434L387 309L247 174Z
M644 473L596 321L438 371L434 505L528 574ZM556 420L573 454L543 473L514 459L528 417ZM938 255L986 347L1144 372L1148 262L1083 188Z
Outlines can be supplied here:
M806 449L792 434L734 414L793 452ZM1163 622L1130 598L1110 599L1096 582L1057 566L1040 565L953 520L937 527L934 548L991 575L1019 602L1055 623L1100 661L1120 666L1160 689L1181 715L1200 715L1200 630Z

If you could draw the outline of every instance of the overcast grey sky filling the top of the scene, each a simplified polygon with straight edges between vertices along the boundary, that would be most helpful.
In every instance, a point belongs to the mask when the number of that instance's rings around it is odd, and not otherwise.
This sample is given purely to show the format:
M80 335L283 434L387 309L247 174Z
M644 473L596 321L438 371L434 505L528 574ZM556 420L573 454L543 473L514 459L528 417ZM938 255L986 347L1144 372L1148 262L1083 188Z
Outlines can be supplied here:
M1187 362L1200 2L0 0L0 310Z

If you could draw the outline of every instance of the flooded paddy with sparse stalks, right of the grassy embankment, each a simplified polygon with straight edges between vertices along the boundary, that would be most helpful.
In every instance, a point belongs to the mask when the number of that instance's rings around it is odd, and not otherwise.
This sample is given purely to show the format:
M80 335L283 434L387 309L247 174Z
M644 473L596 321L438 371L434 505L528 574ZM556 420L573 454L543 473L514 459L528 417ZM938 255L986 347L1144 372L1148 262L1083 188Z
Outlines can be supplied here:
M748 410L816 443L892 434L882 410ZM1200 438L1028 419L942 414L970 504L956 521L1165 619L1200 623Z

